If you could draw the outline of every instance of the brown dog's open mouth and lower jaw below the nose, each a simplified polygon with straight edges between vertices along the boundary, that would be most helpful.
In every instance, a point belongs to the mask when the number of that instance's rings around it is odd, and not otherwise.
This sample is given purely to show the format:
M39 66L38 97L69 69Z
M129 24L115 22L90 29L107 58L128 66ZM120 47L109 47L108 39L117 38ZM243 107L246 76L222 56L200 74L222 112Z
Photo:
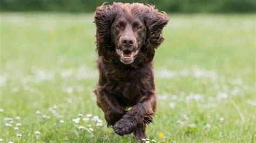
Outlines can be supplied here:
M120 49L116 49L116 52L120 56L120 61L125 65L128 65L134 61L139 50L137 49L136 51L131 52L129 50L121 51Z

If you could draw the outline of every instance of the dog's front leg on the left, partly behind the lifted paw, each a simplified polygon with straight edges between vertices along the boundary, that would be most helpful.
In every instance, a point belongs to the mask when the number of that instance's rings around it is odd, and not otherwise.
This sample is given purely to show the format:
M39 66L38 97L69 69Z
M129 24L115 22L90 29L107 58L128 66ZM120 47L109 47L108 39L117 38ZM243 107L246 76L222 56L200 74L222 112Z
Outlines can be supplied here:
M97 104L103 110L107 125L114 125L125 115L125 109L122 108L111 94L105 91L97 92Z

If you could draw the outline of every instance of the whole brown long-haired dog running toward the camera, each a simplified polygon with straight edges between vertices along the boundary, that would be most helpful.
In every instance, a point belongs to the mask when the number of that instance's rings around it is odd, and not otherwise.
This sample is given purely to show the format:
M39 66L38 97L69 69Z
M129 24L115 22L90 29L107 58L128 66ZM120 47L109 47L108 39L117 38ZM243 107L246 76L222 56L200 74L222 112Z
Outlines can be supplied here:
M133 132L137 140L146 138L145 126L153 121L157 104L154 52L164 41L161 33L168 21L152 5L113 3L96 9L97 104L119 135Z

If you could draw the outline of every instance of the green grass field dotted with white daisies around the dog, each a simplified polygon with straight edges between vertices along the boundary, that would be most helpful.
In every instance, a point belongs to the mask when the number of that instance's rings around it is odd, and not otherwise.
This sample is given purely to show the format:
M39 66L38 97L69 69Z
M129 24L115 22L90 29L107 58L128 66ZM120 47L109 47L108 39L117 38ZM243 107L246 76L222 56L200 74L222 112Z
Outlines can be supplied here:
M0 16L0 142L134 142L113 134L96 105L92 14ZM169 17L147 138L256 142L255 15Z

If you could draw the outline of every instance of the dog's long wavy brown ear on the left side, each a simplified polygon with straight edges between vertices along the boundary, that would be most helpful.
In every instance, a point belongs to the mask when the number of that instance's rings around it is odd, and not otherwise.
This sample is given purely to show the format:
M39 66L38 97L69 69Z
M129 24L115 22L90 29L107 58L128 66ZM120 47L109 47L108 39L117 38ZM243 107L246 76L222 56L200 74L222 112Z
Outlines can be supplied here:
M96 43L99 55L107 54L106 48L113 46L110 36L110 26L117 15L117 3L101 5L96 8L94 22L96 24Z

